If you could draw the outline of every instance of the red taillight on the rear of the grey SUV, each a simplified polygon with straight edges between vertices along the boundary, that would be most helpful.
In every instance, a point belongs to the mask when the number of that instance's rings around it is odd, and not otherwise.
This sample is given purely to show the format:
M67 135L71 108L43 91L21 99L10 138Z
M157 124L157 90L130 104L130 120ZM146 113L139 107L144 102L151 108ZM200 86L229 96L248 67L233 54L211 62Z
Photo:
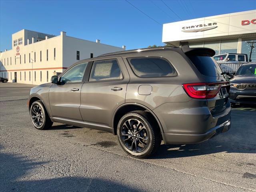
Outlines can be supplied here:
M216 83L186 83L182 84L186 93L196 99L209 99L214 98L220 88L224 84L228 84L229 82L216 82Z

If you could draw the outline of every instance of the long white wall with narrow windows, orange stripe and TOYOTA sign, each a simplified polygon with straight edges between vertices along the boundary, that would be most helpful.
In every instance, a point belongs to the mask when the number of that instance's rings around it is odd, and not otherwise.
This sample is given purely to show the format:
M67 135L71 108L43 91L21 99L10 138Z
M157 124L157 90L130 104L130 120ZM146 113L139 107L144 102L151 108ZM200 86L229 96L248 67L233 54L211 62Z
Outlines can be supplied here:
M16 48L19 46L19 52ZM12 50L0 53L0 75L9 79L8 82L14 82L14 74L17 73L17 82L26 84L42 84L50 82L54 71L62 72L62 36L56 36L40 42L28 45L18 45ZM56 48L56 57L54 59L54 48ZM48 50L48 60L47 60ZM41 51L41 61L40 61ZM36 53L36 60L35 60ZM19 54L19 55L16 55ZM30 60L29 60L30 54ZM7 62L8 60L8 62ZM12 63L10 63L12 60ZM5 61L5 62L4 62ZM7 70L7 71L6 71ZM47 81L48 71L48 81ZM36 76L35 76L36 72ZM42 72L42 76L40 76ZM30 75L29 75L30 73Z

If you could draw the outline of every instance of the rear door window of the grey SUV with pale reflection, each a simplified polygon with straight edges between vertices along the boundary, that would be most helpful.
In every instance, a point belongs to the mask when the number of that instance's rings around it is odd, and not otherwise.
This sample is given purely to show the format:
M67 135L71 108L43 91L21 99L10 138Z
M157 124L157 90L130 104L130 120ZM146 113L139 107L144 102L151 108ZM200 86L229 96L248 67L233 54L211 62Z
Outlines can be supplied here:
M116 59L94 61L89 81L118 80L123 74Z

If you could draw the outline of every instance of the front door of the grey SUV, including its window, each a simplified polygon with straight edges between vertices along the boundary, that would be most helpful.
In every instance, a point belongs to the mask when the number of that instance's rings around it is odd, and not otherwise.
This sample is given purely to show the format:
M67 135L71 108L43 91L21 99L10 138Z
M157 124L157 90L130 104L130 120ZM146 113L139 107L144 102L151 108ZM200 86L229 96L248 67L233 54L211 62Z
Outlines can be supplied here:
M54 117L82 120L79 106L83 77L88 62L76 64L59 77L59 83L49 90L49 101Z

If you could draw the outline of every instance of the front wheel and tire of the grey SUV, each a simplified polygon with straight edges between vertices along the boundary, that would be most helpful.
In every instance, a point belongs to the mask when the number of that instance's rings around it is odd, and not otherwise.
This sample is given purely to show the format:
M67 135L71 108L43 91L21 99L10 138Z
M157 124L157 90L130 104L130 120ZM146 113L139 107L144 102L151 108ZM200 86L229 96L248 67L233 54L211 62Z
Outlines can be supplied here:
M32 103L30 107L30 118L36 129L44 130L52 126L52 121L44 107L44 104L40 100Z

